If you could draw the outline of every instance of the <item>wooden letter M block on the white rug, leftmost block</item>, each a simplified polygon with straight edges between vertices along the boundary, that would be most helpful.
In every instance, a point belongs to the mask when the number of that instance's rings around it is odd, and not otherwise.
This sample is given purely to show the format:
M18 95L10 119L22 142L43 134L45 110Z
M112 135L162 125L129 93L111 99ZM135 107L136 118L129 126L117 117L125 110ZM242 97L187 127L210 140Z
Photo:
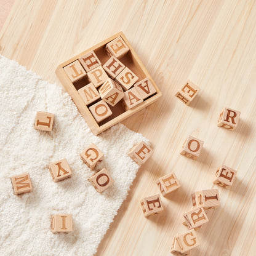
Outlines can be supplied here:
M12 186L14 187L14 194L28 193L33 190L30 174L15 175L10 178Z

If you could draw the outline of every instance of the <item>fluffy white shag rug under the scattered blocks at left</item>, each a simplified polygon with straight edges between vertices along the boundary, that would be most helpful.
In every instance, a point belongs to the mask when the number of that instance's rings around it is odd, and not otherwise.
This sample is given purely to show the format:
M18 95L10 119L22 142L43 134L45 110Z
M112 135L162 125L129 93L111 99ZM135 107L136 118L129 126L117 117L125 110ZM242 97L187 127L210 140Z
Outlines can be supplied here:
M93 135L66 92L1 55L0 90L0 255L94 255L139 167L127 150L148 140L122 124ZM36 111L55 114L52 132L34 129ZM102 194L79 157L92 142L115 182ZM54 183L48 165L63 158L73 175ZM15 196L10 177L23 172L33 191ZM51 232L50 217L58 213L73 214L73 233Z

